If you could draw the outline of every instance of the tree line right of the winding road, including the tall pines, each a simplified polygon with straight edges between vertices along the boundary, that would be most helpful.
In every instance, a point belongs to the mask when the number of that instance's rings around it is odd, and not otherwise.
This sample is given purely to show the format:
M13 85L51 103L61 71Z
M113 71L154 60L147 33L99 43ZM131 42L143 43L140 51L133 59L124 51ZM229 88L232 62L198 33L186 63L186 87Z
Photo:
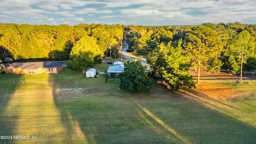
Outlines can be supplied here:
M204 23L198 26L126 26L131 51L148 53L148 64L158 82L175 90L193 87L188 68L232 74L256 69L256 25ZM244 65L243 65L244 64ZM242 82L240 80L240 82Z

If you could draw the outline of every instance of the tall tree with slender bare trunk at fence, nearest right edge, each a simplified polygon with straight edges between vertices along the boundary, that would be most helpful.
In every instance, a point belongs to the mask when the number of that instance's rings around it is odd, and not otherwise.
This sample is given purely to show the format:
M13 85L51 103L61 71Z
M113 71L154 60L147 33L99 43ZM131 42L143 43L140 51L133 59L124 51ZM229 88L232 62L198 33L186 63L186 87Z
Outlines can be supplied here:
M246 63L248 57L252 57L254 55L254 49L254 38L247 30L243 30L242 32L234 35L229 41L226 55L234 56L234 59L240 64L240 83L242 83L243 63Z

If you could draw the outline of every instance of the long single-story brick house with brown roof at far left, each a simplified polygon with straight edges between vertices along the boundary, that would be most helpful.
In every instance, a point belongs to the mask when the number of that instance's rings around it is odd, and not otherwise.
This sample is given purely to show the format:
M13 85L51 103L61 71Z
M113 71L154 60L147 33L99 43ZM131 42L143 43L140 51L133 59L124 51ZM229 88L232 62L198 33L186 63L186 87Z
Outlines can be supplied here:
M6 73L50 74L62 70L64 62L14 62L6 66Z

